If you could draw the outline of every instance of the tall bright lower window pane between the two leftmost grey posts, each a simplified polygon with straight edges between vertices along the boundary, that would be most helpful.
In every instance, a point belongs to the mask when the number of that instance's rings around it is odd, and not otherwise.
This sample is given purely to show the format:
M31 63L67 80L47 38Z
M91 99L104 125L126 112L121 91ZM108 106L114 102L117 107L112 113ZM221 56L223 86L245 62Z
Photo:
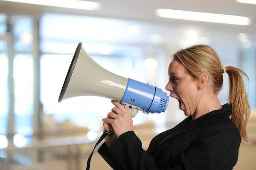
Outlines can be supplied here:
M34 65L31 54L14 58L15 131L29 135L33 132Z

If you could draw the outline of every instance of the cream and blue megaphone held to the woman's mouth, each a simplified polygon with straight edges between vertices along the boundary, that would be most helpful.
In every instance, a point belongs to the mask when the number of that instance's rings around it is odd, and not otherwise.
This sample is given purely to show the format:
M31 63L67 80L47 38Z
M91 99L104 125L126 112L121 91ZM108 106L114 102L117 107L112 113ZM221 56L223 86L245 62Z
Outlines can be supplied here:
M121 103L134 117L164 112L169 96L150 83L125 78L96 63L79 42L64 80L58 102L77 96L100 96Z

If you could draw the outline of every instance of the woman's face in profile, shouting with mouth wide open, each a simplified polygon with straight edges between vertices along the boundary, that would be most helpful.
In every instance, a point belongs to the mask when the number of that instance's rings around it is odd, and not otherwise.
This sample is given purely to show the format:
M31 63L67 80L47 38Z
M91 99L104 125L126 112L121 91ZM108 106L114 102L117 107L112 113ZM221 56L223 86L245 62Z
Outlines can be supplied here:
M178 99L180 110L186 116L193 115L201 94L197 79L190 76L186 68L175 59L169 64L168 76L169 82L166 85L166 90L170 91L171 97Z

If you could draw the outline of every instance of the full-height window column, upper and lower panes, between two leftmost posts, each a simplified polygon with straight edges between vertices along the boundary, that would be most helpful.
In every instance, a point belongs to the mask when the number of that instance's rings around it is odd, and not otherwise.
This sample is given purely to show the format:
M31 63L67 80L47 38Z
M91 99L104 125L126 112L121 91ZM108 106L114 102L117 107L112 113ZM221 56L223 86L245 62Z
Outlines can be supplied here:
M15 133L31 135L34 113L33 19L15 16L13 20Z

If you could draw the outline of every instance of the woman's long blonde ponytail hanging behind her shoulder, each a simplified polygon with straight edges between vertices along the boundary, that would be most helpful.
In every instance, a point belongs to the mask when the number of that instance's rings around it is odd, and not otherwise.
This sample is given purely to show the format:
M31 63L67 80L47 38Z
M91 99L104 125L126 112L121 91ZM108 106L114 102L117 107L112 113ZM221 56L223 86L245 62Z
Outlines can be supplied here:
M231 120L239 130L242 141L249 142L246 133L247 120L250 116L250 103L246 93L246 87L242 75L249 81L249 77L239 68L227 66L226 73L229 75L228 102L232 108Z

